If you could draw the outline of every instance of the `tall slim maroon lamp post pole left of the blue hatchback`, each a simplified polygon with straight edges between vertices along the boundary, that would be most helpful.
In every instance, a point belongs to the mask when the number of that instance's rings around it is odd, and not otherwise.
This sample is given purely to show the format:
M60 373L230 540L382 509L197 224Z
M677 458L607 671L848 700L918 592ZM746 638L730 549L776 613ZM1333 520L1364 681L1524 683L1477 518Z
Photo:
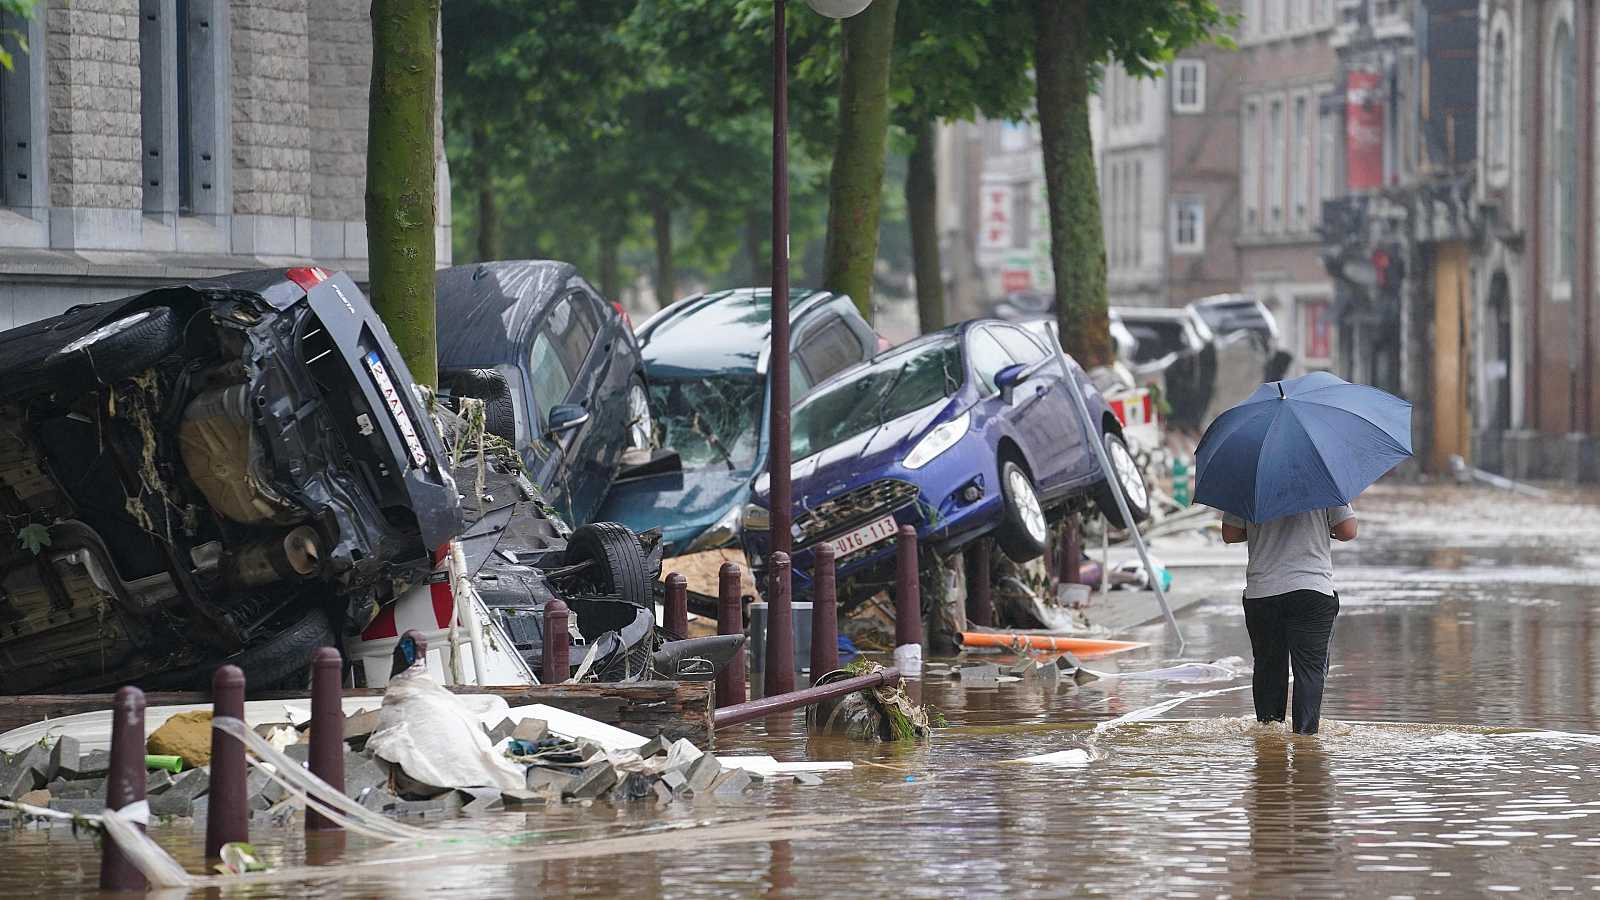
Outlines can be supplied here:
M789 552L789 34L787 0L773 0L773 349L768 354L771 423L766 452L768 535L774 552ZM768 650L771 653L771 650ZM771 666L766 666L771 671Z

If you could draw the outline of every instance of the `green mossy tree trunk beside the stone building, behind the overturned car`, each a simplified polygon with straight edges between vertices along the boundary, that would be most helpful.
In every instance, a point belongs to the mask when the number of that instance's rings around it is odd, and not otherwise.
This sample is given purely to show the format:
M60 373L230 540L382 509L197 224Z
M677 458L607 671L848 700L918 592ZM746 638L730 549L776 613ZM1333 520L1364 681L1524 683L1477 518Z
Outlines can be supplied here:
M373 0L366 240L373 306L411 378L438 383L434 226L440 0Z

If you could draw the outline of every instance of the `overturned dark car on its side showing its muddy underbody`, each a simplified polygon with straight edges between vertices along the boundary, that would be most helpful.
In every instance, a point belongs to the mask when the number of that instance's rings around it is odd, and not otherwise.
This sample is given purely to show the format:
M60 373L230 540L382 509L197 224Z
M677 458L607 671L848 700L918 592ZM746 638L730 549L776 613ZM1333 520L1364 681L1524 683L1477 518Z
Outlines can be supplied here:
M461 530L429 412L322 269L80 306L0 335L0 692L251 687Z

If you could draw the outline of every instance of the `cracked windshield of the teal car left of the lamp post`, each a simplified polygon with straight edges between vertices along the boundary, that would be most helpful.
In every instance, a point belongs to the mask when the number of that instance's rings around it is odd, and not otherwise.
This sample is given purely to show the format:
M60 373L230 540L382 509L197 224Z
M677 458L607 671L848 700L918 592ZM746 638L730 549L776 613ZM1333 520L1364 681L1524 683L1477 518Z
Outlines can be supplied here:
M651 376L650 405L656 415L658 444L677 450L685 468L754 468L765 384L765 378L754 372Z

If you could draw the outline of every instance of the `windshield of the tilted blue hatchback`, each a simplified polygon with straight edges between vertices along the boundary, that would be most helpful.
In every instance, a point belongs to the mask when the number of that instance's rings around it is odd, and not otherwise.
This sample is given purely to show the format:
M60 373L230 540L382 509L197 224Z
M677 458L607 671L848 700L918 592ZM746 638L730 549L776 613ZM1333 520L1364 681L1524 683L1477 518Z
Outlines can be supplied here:
M963 380L962 346L954 336L880 356L795 410L790 426L794 455L802 460L821 453L939 402L954 394Z

